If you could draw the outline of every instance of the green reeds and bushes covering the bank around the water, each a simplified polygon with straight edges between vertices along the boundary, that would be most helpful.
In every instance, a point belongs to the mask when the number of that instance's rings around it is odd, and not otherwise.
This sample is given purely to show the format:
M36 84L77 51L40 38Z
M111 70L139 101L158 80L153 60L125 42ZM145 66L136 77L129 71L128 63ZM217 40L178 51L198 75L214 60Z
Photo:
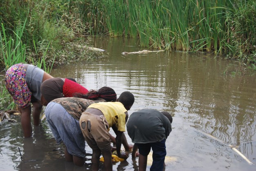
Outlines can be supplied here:
M26 62L50 72L101 57L86 48L84 36L108 35L138 37L147 48L223 55L256 70L255 6L255 0L2 0L0 68Z

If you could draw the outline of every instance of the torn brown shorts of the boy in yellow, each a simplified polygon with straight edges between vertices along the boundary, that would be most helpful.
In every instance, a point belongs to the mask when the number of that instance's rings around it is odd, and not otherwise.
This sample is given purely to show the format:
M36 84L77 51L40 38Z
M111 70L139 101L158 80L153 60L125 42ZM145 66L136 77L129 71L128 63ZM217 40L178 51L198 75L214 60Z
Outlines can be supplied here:
M80 128L91 149L107 151L111 145L108 123L104 115L98 116L89 112L82 113Z

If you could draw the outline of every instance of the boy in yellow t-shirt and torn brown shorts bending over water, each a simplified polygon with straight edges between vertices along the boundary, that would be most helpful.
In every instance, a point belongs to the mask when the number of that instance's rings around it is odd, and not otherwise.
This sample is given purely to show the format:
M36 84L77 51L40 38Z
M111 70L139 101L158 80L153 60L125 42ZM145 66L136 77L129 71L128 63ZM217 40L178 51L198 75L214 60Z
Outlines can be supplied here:
M100 154L104 158L106 171L112 171L112 153L109 128L116 133L116 150L119 158L128 158L128 154L120 152L122 136L128 119L127 110L134 103L131 92L122 92L116 102L103 102L89 105L80 117L80 128L87 144L93 150L92 170L98 171Z

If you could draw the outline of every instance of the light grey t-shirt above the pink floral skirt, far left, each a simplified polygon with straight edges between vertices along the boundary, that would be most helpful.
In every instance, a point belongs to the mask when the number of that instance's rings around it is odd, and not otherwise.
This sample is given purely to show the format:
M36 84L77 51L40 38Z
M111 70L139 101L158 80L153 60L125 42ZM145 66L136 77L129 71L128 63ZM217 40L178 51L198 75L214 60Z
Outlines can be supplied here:
M40 86L45 72L37 66L33 66L30 64L24 64L24 66L27 68L25 79L29 87L29 90L32 92L32 96L34 96L36 99L40 101Z

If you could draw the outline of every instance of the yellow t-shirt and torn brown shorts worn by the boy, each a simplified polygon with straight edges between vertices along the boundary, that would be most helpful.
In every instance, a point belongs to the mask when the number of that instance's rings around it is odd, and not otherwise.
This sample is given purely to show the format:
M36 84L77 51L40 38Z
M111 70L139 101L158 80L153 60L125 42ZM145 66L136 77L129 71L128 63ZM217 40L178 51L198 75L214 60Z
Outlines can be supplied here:
M118 131L125 132L125 109L120 102L93 103L87 107L100 110L103 115L98 116L87 111L80 117L80 127L91 149L109 150L111 139L109 128L116 125Z

